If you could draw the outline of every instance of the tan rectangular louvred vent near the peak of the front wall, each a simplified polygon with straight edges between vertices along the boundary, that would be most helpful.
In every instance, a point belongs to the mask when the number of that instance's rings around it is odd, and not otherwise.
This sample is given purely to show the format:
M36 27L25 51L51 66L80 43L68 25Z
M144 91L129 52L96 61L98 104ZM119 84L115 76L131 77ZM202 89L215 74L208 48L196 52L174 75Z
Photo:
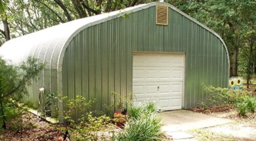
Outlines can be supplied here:
M156 24L168 24L168 7L163 5L156 6Z

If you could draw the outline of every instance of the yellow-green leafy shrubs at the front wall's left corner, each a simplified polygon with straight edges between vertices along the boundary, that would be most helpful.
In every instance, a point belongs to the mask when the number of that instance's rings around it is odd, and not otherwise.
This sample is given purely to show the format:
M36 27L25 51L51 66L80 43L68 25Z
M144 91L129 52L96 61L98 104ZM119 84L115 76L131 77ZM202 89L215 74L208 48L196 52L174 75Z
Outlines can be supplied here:
M63 98L66 101L64 119L70 122L72 140L103 140L104 134L99 134L107 129L110 117L106 115L95 116L98 113L92 110L95 101L88 101L85 97L77 95L75 99Z

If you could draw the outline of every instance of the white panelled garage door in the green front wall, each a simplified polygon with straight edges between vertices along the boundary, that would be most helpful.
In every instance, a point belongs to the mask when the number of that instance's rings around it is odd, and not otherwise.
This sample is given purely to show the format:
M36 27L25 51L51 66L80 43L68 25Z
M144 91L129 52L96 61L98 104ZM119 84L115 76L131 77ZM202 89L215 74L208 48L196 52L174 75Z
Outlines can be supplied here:
M182 108L184 54L133 55L135 103L154 101L158 110Z

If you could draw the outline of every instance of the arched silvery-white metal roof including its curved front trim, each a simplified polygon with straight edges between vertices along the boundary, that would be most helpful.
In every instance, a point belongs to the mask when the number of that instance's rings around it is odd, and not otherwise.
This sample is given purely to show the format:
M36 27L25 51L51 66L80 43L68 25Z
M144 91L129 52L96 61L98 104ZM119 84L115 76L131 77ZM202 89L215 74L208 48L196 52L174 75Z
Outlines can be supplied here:
M202 26L204 29L207 29L208 31L213 33L221 40L221 42L223 42L226 54L228 56L226 44L217 33L212 31L205 25L201 24L194 18L191 18L176 7L173 7L173 5L170 5L168 3L154 2L96 16L91 16L88 18L74 20L72 22L55 25L53 27L37 31L35 33L30 33L16 39L9 40L8 42L5 42L3 46L1 46L0 57L3 57L3 59L9 61L9 63L16 65L24 61L28 56L32 56L37 58L40 63L45 63L46 69L51 68L61 71L64 52L69 42L75 37L75 35L77 35L77 33L87 27L100 24L108 20L112 20L114 18L122 16L125 13L136 12L144 8L153 7L156 5L166 5L169 8L172 8L173 10L179 12L186 18L192 20L196 24ZM228 67L229 66L230 64L228 57Z

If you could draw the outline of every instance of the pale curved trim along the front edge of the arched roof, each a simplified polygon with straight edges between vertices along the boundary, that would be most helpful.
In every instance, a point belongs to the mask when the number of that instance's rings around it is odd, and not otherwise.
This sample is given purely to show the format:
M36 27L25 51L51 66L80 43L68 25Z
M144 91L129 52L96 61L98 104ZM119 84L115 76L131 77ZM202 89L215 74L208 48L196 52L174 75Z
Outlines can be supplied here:
M137 6L137 7L135 7L135 8L131 8L131 7L130 7L130 8L125 8L125 9L123 9L123 10L118 10L118 12L119 12L118 14L113 14L113 15L110 15L109 17L107 17L107 18L102 18L102 19L100 19L100 20L96 20L95 22L91 22L90 24L83 25L82 27L80 27L79 29L77 29L77 31L75 31L75 32L72 34L72 36L70 36L70 38L69 38L68 40L66 40L66 42L65 42L65 44L64 44L64 46L63 46L63 48L62 48L62 51L60 52L60 56L58 57L58 58L59 58L59 59L58 59L58 72L59 72L59 71L60 71L60 72L62 71L62 61L63 61L63 57L64 57L64 54L65 54L64 50L66 50L66 48L68 47L68 44L70 43L70 41L71 41L71 40L75 37L75 35L77 35L80 31L83 31L83 29L86 29L87 27L91 27L91 26L93 26L93 25L97 25L97 24L100 24L100 23L102 23L102 22L106 22L106 21L108 21L108 20L112 20L112 19L114 19L114 18L118 18L118 17L122 16L122 15L125 14L125 13L129 14L129 12L131 12L131 11L132 11L132 12L136 12L136 11L143 10L143 9L145 9L145 8L149 8L149 7L156 6L156 5L165 5L165 6L169 7L169 8L172 8L172 9L175 10L176 12L179 12L180 14L182 14L182 16L188 18L189 20L192 20L192 22L194 22L194 23L200 25L201 27L203 27L204 29L206 29L207 31L213 33L213 35L215 35L216 37L218 37L218 38L221 40L221 42L223 43L224 49L226 50L226 55L227 55L227 59L228 59L228 76L229 76L229 74L230 74L230 73L229 73L229 71L230 71L230 70L229 70L229 68L230 68L230 59L229 59L229 55L228 55L228 48L226 48L226 44L225 44L224 40L221 38L221 36L220 36L218 33L216 33L215 31L209 29L209 27L207 27L207 26L203 25L202 23L198 22L198 20L196 20L196 19L194 19L194 18L188 16L188 14L186 14L186 13L182 12L181 10L179 10L178 8L174 7L173 5L171 5L171 4L169 4L169 3L164 3L164 2L153 2L153 3L138 5L138 6L140 6L140 7ZM115 12L117 12L117 11L115 11ZM110 12L110 14L111 14L111 13L112 13L112 12Z

